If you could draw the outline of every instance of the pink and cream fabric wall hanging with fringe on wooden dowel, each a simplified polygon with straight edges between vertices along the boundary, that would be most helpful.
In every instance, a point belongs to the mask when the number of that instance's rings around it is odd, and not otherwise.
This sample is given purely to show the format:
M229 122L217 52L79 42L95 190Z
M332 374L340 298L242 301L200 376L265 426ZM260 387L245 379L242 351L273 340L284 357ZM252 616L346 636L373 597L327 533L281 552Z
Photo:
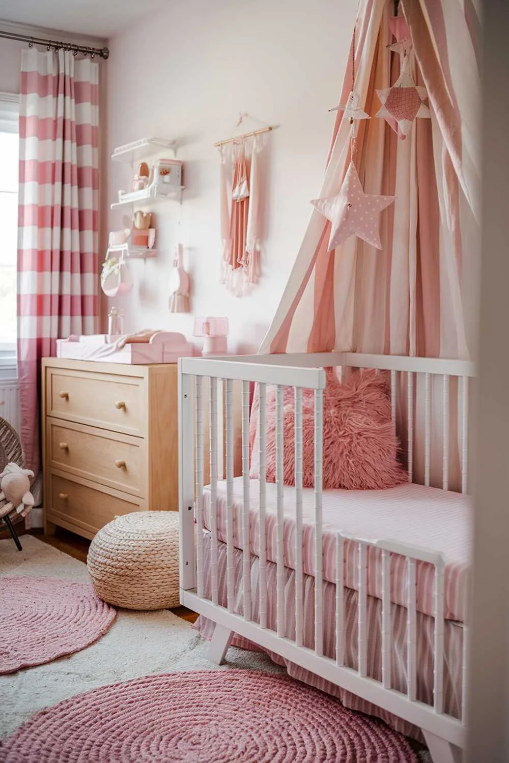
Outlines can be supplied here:
M248 114L240 114L238 127ZM263 173L262 133L272 127L222 140L221 155L221 282L241 297L258 282L262 237Z

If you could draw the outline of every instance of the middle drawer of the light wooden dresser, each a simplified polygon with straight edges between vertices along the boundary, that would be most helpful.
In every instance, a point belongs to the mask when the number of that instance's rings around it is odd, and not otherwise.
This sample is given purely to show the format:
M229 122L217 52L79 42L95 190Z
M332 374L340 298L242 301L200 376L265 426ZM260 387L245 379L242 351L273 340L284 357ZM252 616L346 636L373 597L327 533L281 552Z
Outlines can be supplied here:
M147 446L140 437L48 418L48 466L137 496L146 495Z

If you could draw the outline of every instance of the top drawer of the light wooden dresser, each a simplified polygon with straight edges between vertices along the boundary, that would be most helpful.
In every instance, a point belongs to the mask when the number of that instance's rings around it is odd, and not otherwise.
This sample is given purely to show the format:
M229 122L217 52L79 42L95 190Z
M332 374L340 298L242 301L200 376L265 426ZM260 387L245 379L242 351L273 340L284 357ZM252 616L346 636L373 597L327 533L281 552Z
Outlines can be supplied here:
M144 436L143 378L47 369L46 413L94 427Z

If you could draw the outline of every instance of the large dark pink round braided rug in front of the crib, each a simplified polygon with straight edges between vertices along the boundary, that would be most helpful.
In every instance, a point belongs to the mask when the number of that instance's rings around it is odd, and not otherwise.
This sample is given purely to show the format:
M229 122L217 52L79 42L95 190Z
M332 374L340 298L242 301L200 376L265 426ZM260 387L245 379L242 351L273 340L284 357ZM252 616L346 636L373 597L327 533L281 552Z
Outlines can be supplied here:
M287 676L151 675L79 694L0 742L5 763L417 763L401 734Z

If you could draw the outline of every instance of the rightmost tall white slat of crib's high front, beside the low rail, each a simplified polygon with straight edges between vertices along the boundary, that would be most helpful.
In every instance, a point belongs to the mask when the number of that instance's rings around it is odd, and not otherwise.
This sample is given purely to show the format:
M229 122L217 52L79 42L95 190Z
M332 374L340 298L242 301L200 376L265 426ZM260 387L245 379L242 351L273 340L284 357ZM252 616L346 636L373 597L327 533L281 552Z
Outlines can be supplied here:
M324 391L314 391L314 651L324 654L324 568L322 549L322 469Z

